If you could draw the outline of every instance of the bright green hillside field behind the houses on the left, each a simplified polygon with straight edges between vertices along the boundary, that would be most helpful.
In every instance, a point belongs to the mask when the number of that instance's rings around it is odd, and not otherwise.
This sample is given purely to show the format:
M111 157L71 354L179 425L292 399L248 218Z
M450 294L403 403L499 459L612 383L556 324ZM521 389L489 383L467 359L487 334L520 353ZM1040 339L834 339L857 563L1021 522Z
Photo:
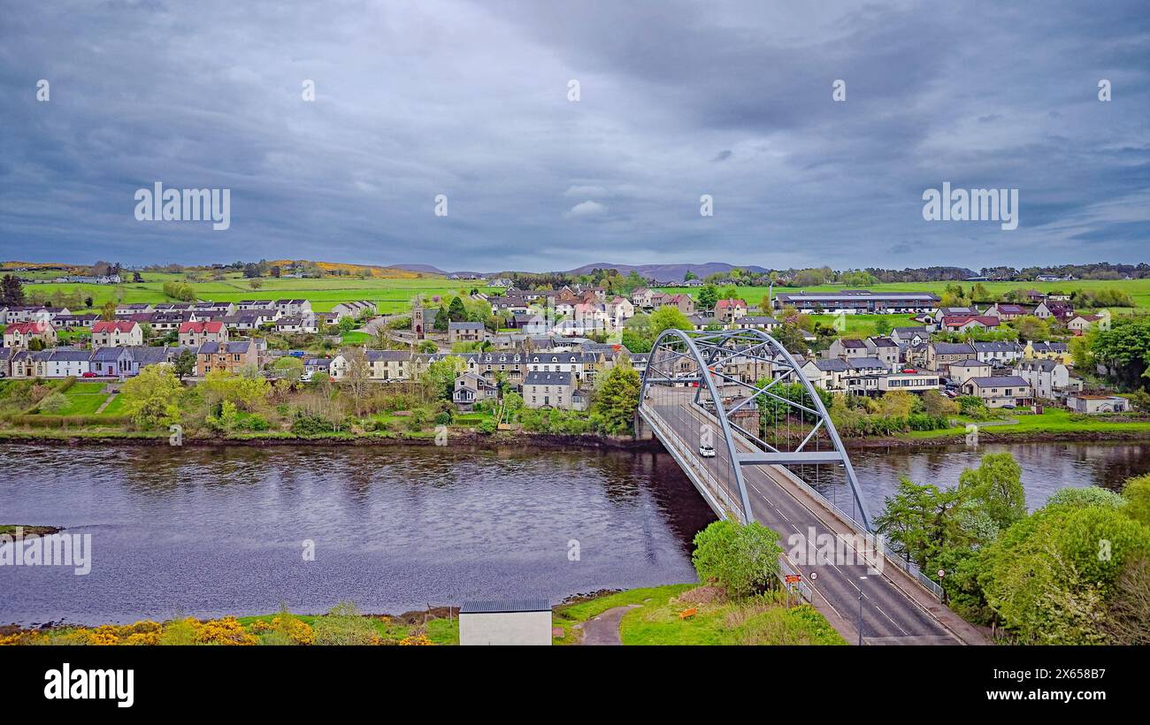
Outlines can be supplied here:
M124 283L120 285L78 285L78 284L29 284L25 293L56 291L79 292L82 296L93 299L92 307L99 309L108 300L115 302L178 302L163 294L163 283L186 281L184 275L168 272L144 272L143 283ZM312 309L317 313L329 311L339 302L352 300L369 300L379 307L383 314L406 311L412 298L422 294L425 298L435 295L457 295L469 292L474 285L467 281L448 281L445 277L427 278L370 278L324 277L322 279L263 278L259 290L253 290L248 280L238 272L232 272L225 279L215 281L190 283L200 300L217 302L238 302L240 300L262 300L300 298L310 300Z

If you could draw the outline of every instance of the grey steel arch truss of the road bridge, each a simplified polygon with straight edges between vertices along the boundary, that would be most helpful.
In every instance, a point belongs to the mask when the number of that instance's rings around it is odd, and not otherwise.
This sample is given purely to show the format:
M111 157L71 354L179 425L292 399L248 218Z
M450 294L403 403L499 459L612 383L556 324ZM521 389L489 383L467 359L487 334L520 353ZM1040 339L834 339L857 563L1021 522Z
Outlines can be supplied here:
M765 371L761 377L760 370ZM796 388L793 384L802 388ZM796 391L805 394L795 400ZM789 393L789 396L780 393ZM668 404L667 400L672 403ZM702 426L700 437L707 434L705 429L719 429L722 440L715 441L714 448L723 447L726 460L730 462L722 480L715 480L706 471L693 440L668 441L668 437L675 434L667 430L669 422L665 418L668 411L672 415L676 412L670 407L676 404L691 406L695 412L712 422L712 426ZM873 531L854 469L822 398L787 348L761 330L665 330L651 348L643 373L637 416L654 429L665 445L670 444L668 450L689 476L695 473L692 478L697 478L703 473L712 486L718 484L721 508L742 523L753 520L744 468L787 466L792 478L822 496L792 466L799 468L799 471L813 466L818 471L819 466L830 465L841 466L843 478L850 486L854 515L843 512L866 531ZM765 430L760 416L770 417L774 435L760 437ZM758 430L747 430L747 421L759 422ZM780 438L783 425L785 434ZM772 438L773 442L764 438ZM745 450L747 447L752 450ZM706 492L704 495L713 508L719 508L715 507L715 496ZM828 503L835 506L830 501Z

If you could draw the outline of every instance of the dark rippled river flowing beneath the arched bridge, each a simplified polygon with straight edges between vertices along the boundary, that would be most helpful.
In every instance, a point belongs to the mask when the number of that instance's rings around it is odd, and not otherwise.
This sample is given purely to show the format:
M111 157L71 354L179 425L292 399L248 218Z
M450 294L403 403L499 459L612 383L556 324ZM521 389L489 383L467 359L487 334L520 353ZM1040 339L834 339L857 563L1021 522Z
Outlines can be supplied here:
M953 485L1010 450L1027 502L1118 488L1150 447L1030 444L854 452L873 512L900 475ZM558 602L693 580L714 519L662 453L460 447L0 445L0 524L91 534L92 570L0 566L0 623L248 615L340 601L398 612L475 599ZM314 561L305 561L307 543Z

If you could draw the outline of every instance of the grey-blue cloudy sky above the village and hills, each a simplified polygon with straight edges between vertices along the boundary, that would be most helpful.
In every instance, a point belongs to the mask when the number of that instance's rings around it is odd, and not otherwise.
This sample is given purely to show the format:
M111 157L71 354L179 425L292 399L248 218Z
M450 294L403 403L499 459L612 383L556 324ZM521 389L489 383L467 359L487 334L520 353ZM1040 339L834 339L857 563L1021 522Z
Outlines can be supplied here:
M1150 261L1144 0L0 11L3 260ZM230 229L137 221L155 182L231 190ZM925 221L943 182L1018 188L1018 229Z

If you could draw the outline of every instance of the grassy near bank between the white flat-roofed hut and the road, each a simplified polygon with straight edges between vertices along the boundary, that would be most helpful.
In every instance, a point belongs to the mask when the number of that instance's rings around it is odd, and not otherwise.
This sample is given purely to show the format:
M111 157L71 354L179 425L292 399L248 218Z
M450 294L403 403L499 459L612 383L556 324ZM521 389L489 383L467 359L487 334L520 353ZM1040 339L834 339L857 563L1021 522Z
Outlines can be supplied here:
M557 645L575 645L582 626L615 607L623 645L845 645L810 604L788 608L776 594L731 601L712 587L675 584L630 589L555 609ZM692 611L693 610L693 611Z

